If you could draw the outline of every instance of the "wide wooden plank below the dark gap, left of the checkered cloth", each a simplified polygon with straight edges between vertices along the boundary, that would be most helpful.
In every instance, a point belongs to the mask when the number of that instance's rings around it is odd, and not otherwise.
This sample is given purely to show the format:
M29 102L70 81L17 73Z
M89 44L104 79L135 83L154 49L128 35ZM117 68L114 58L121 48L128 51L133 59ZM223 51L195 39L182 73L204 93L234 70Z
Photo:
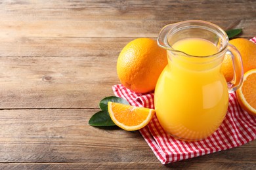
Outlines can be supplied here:
M0 162L157 162L139 132L102 129L98 109L0 110Z

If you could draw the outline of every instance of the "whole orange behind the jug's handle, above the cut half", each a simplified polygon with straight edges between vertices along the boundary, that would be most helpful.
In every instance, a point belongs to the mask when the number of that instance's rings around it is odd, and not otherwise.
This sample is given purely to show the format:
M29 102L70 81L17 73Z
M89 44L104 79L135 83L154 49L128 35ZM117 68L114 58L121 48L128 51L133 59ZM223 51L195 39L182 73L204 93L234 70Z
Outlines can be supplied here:
M234 45L241 54L244 73L256 69L256 44L243 38L232 39L229 41L230 44ZM233 64L232 59L225 56L221 71L224 74L226 81L230 82L233 78Z

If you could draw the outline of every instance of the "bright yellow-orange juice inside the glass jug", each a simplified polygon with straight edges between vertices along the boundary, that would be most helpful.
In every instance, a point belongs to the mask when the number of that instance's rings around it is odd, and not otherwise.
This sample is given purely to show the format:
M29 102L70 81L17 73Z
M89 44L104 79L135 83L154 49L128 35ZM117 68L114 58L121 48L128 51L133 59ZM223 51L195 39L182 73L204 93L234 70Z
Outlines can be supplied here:
M158 121L179 139L204 139L221 125L228 107L227 84L220 72L224 56L216 57L219 48L200 38L181 39L171 47L181 52L167 50L169 63L154 97Z

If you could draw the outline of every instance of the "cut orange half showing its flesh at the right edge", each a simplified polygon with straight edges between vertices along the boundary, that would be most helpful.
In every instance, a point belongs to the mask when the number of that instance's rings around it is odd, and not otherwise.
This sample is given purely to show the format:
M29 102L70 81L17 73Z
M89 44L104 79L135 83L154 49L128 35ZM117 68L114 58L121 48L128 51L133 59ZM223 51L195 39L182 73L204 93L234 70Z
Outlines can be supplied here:
M249 114L256 116L256 69L244 74L244 82L236 91L238 103Z

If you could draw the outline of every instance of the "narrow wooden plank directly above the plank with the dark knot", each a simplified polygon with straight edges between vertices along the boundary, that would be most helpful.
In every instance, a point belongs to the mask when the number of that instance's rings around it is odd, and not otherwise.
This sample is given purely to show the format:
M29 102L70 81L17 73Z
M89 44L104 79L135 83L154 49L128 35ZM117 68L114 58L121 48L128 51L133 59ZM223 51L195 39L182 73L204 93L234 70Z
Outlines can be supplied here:
M0 39L0 56L102 57L113 62L125 44L133 39L135 38L9 37Z

